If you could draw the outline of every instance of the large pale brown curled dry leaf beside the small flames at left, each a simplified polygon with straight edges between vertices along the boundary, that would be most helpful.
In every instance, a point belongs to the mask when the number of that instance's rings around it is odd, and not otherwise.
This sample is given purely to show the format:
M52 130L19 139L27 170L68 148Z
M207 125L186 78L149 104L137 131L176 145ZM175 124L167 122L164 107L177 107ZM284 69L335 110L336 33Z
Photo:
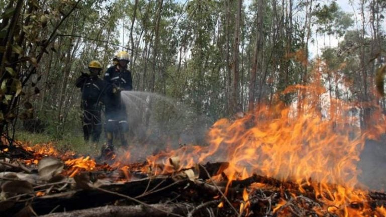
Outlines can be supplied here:
M49 180L62 172L64 164L57 158L45 157L38 163L39 176L43 180Z

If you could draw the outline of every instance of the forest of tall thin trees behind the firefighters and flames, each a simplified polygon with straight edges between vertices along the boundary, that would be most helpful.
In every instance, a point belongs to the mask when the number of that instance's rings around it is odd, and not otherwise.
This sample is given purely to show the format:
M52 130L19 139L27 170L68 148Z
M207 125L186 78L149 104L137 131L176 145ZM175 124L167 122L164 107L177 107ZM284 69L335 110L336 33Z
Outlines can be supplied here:
M130 54L134 90L170 97L210 124L272 104L317 70L330 96L358 102L365 127L366 102L384 106L372 91L384 61L385 3L347 6L354 11L312 0L3 2L0 129L18 126L30 102L47 134L77 135L75 79L90 60L107 69L121 50Z

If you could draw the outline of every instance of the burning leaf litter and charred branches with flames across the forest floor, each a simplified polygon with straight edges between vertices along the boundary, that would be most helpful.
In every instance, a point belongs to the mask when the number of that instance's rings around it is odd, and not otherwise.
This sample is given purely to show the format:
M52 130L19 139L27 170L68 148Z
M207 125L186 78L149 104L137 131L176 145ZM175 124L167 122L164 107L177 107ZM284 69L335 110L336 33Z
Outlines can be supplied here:
M219 120L208 146L163 151L145 163L128 163L133 153L99 163L52 144L5 148L0 214L140 203L177 216L385 216L386 194L359 188L357 179L359 155L384 133L384 115L375 109L363 131L355 104L326 102L317 82L285 90L305 95L292 105ZM171 204L186 205L171 213Z

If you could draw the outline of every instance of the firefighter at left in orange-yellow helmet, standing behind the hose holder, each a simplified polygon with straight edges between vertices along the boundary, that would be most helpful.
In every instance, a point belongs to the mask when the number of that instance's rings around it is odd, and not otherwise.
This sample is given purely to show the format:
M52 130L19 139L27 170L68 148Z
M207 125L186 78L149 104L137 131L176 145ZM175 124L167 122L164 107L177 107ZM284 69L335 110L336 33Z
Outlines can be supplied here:
M102 64L92 60L88 64L88 72L82 73L76 80L76 87L82 92L81 108L83 110L83 136L93 143L98 142L102 133L100 100L105 89L105 81L99 75Z

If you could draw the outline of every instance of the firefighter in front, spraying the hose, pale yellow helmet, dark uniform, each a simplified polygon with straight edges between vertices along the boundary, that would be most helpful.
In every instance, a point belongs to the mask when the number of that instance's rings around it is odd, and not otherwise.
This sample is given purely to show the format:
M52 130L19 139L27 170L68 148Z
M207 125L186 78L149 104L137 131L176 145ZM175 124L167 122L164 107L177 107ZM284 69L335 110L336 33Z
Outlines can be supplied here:
M107 148L102 150L103 154L114 150L113 135L119 135L121 144L127 147L127 140L125 134L128 132L129 127L127 123L126 107L122 103L120 94L117 92L123 90L132 89L132 77L131 72L127 69L129 63L129 55L126 51L121 51L116 55L118 64L111 66L105 74L104 80L112 84L114 97L109 98L109 102L105 104L105 116L106 116L106 134L107 134Z

